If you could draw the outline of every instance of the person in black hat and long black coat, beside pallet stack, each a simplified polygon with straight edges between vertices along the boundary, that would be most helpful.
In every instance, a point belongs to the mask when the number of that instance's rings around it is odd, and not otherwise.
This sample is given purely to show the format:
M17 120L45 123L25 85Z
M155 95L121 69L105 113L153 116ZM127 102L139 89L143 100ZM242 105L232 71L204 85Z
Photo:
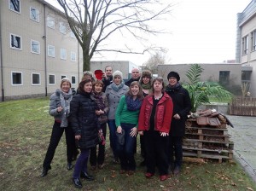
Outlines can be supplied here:
M180 77L177 72L170 72L167 76L169 84L166 93L172 97L173 113L169 140L169 164L174 175L178 175L183 162L183 136L185 135L185 122L191 109L188 90L178 83ZM175 156L175 160L173 159Z

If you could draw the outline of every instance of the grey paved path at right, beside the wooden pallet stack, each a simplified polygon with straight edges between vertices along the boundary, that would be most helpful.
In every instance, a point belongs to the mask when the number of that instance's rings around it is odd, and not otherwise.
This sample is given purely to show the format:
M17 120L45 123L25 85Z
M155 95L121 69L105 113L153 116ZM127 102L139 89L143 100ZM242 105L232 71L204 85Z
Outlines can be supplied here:
M242 167L256 182L256 117L227 115L234 128L229 127L234 153Z

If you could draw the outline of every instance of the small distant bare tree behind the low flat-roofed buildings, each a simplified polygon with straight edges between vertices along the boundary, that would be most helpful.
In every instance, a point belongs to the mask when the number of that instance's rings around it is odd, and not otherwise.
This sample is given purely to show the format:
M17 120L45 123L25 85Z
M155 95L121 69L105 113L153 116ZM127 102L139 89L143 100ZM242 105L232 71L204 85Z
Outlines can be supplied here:
M155 54L143 64L143 68L148 69L153 73L158 73L158 65L166 64L166 52L166 49L161 49L161 51L155 52Z

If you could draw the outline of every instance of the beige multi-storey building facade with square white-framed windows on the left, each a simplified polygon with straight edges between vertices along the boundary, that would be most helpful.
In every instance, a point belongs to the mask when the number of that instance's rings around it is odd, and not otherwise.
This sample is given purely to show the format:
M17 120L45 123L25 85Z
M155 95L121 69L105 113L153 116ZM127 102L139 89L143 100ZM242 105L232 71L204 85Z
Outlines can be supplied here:
M0 1L0 100L47 96L79 84L82 57L65 15L44 0Z

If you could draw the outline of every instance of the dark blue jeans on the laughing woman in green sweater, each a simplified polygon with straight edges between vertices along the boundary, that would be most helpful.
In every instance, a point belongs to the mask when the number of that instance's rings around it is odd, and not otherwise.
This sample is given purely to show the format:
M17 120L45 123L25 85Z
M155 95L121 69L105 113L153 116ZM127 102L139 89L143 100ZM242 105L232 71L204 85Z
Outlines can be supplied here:
M137 136L131 136L131 129L135 127L136 124L123 124L121 127L125 130L125 144L120 145L119 142L116 142L116 151L118 153L121 169L127 171L135 171L136 162L134 159L134 148L136 147ZM116 136L116 135L115 135ZM117 140L117 136L116 136Z

